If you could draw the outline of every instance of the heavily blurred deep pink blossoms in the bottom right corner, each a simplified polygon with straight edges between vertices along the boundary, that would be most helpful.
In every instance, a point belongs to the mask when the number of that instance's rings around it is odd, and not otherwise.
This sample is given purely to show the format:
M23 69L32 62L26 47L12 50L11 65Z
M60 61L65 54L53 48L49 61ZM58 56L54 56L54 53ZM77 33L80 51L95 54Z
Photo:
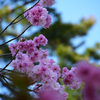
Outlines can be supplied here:
M76 67L76 77L85 83L83 99L100 100L100 68L86 61L78 62Z

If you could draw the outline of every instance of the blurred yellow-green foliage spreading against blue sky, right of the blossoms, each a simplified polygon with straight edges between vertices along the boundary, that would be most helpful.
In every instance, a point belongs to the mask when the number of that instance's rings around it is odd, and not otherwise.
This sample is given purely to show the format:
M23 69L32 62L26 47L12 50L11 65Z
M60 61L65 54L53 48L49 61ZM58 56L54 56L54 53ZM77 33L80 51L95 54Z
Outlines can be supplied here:
M68 67L69 69L79 60L94 60L100 61L98 51L100 50L100 43L97 43L93 48L87 48L83 54L76 52L85 41L81 41L76 47L73 46L71 39L75 37L83 37L87 35L87 31L95 23L95 20L90 17L89 19L82 18L79 24L62 23L59 17L49 29L41 29L38 32L31 35L31 39L35 35L43 34L48 39L48 46L46 48L51 49L51 52L56 52L59 58L59 65L61 67Z

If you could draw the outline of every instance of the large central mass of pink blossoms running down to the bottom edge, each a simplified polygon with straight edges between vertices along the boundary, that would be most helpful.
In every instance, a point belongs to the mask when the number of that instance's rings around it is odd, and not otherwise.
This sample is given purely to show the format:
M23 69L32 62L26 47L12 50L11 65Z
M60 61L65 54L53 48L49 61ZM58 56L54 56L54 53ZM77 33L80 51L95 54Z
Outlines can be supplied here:
M58 80L63 78L66 86L71 89L78 89L80 81L75 77L76 68L69 71L64 67L61 75L59 65L55 65L55 61L47 57L47 50L40 48L40 46L46 46L47 41L45 36L40 34L33 40L22 39L15 44L10 44L12 56L18 51L16 59L11 62L11 66L14 70L27 74L31 84L41 83L41 87L35 89L36 94L41 98L40 100L47 100L48 96L50 96L50 100L66 100L68 94L63 92L64 86L59 84ZM34 88L37 86L39 85Z

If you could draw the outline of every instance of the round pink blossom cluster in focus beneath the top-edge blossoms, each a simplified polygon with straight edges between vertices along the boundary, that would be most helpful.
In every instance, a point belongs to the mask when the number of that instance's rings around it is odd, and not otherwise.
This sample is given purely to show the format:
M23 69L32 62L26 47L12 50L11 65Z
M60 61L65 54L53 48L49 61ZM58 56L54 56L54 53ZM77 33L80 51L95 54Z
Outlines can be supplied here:
M46 8L43 8L39 3L24 13L24 16L34 26L42 26L45 29L49 28L51 23L51 16L48 14Z

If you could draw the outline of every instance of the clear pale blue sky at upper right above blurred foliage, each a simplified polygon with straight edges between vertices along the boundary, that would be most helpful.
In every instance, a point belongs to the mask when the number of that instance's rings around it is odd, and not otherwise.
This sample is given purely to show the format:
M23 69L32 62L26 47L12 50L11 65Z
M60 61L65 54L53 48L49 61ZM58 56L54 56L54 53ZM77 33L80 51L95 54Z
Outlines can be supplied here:
M95 25L88 31L84 38L74 39L74 43L85 40L83 49L77 50L81 53L87 47L93 47L95 43L100 42L100 0L56 0L53 5L57 12L61 13L63 22L79 23L82 17L89 18L91 15L96 19Z

